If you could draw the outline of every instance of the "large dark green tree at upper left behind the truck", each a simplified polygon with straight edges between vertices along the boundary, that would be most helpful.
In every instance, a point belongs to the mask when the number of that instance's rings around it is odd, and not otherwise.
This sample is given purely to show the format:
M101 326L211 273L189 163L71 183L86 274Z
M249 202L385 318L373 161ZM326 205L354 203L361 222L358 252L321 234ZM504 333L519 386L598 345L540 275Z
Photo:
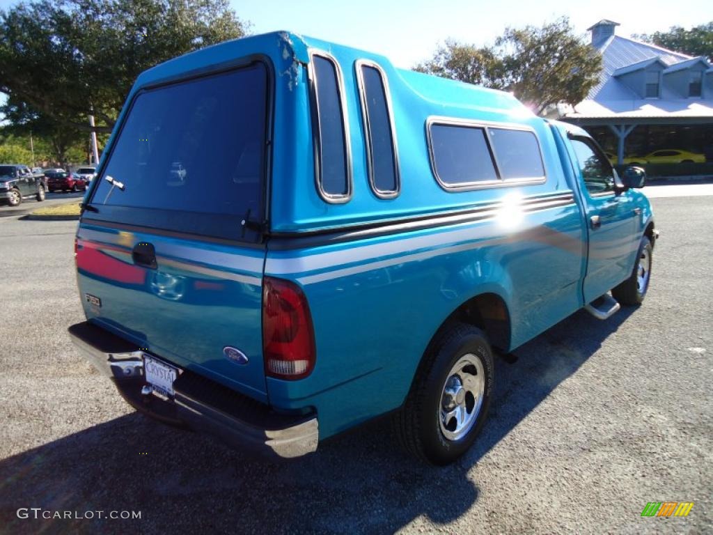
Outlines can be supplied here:
M36 0L0 11L0 92L111 131L141 71L245 34L228 0Z

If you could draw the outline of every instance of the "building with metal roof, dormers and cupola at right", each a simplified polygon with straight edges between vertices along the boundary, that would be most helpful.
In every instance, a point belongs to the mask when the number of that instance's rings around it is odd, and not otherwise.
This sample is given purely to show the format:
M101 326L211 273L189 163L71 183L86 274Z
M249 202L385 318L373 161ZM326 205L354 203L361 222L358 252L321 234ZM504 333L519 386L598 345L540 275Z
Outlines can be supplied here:
M599 82L582 102L560 106L560 118L593 133L618 163L657 148L702 153L710 161L711 63L618 36L616 26L605 19L588 29L592 46L602 55Z

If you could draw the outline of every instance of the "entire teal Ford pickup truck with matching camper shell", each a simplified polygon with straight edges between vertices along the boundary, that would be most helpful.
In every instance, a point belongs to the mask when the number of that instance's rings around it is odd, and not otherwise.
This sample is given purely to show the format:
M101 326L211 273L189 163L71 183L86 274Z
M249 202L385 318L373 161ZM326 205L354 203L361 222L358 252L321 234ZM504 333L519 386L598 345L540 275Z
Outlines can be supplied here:
M509 93L275 33L145 71L123 110L69 333L133 407L234 447L297 457L393 413L453 462L493 351L647 293L645 173Z

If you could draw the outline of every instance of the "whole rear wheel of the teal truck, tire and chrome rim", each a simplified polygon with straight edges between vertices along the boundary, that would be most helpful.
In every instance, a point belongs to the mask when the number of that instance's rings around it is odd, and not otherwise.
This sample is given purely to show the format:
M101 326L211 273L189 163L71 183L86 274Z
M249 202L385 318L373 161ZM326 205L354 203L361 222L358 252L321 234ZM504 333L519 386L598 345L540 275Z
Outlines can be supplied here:
M431 345L394 426L411 454L450 464L475 441L493 392L493 355L488 339L456 323Z

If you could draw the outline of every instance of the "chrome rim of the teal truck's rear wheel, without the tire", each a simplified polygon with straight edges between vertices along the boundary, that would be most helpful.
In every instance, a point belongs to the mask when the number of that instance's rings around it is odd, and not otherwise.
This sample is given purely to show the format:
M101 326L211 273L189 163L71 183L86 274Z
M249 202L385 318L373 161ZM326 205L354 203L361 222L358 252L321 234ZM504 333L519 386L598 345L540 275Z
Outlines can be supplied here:
M443 437L461 439L476 423L483 404L485 378L483 363L472 353L463 355L448 372L438 418Z

